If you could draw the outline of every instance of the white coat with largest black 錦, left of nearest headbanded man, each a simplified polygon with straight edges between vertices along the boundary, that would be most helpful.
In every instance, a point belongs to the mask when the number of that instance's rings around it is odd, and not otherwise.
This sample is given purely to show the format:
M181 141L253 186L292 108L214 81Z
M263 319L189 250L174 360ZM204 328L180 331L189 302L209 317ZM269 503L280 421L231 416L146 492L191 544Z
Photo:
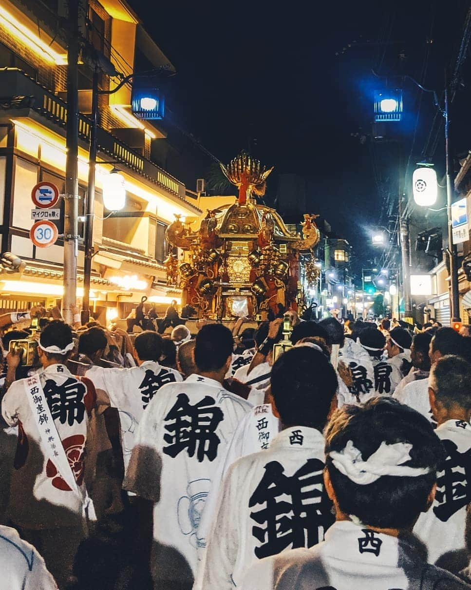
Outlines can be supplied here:
M322 541L334 522L323 469L324 437L307 427L286 428L268 450L236 461L223 481L201 587L240 586L253 560Z

